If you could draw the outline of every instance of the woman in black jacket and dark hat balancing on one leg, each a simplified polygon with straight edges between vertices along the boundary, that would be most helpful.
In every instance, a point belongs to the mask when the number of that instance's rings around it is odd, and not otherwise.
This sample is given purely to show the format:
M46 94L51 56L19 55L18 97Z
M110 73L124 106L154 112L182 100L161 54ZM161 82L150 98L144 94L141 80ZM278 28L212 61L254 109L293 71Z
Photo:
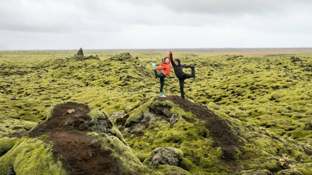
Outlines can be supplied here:
M181 98L184 98L184 80L187 78L195 77L195 65L196 64L184 65L184 64L181 64L180 59L175 59L173 61L172 50L170 50L168 57L170 58L170 62L173 66L174 73L179 79ZM191 68L192 74L184 73L182 68Z

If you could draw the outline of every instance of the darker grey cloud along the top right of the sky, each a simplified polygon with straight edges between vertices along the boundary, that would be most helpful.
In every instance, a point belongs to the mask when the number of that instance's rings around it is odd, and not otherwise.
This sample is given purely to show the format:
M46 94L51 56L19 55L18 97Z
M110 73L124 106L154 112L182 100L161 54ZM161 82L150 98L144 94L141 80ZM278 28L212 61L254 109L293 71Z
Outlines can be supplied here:
M246 14L291 13L305 9L309 11L309 0L132 0L141 6L162 5L179 13L206 13L224 16ZM308 6L308 8L307 8Z

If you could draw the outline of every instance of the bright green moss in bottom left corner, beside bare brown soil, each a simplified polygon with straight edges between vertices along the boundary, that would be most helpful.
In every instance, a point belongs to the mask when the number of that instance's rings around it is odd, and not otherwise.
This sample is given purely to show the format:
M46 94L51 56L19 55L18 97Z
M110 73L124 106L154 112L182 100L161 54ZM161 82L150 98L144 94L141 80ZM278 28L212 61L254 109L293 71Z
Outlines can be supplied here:
M16 174L66 174L61 162L53 158L52 144L28 138L10 140L10 147L14 146L0 157L1 173L14 167Z

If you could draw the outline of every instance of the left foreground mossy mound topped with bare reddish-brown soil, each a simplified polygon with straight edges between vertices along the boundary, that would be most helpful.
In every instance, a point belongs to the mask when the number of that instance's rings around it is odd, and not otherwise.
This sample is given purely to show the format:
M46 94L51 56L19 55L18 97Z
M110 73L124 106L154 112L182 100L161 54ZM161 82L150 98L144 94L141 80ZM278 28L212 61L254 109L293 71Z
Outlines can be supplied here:
M106 113L91 110L82 103L66 102L52 106L46 118L46 122L29 132L31 138L4 137L0 140L0 167L4 168L0 172L155 173L134 156Z

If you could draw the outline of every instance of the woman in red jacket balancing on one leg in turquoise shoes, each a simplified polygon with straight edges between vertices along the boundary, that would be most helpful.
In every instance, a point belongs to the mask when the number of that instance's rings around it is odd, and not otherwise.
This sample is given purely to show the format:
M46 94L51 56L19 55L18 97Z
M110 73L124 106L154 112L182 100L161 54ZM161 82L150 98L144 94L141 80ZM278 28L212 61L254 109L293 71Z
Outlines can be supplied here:
M165 77L169 76L170 73L170 56L171 51L169 52L169 57L166 57L160 64L159 67L156 67L156 64L153 62L150 62L150 64L153 65L154 73L156 77L159 77L160 79L160 94L159 97L167 97L163 94L163 85L165 83ZM162 70L161 73L157 73L157 70Z

